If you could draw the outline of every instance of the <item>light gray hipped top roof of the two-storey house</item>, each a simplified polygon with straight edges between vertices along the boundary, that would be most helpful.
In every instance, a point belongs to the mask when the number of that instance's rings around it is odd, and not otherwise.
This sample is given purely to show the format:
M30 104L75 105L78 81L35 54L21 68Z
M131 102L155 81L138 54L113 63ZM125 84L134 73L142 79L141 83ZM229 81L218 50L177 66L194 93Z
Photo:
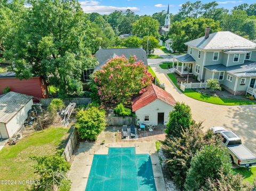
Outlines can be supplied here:
M188 41L185 45L194 46L201 49L254 49L256 43L230 31L219 31L210 34L209 38L197 38Z

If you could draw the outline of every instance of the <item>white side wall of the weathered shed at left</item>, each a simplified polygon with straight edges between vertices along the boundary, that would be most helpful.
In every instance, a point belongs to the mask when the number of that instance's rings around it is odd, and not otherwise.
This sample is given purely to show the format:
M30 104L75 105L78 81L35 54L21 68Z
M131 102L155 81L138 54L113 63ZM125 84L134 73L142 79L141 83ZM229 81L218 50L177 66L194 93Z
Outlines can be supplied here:
M22 126L23 122L28 117L28 111L33 105L32 99L9 121L6 123L6 129L9 136L13 136L15 132Z

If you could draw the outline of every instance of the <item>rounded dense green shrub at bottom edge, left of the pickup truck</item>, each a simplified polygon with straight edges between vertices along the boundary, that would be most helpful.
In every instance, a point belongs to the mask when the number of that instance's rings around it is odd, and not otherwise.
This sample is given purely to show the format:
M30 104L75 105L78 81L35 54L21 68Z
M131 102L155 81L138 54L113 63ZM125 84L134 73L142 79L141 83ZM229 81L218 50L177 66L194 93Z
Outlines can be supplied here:
M220 171L225 176L231 173L231 161L226 149L204 146L191 159L185 188L197 191L205 185L206 179L220 179Z

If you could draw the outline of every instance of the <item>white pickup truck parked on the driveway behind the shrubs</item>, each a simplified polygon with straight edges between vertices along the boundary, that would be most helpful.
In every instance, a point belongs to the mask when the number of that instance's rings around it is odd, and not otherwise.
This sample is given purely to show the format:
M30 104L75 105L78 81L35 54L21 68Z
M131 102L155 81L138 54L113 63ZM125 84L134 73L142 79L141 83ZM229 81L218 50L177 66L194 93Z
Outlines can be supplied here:
M223 138L222 145L228 148L231 161L240 167L251 167L256 164L256 156L242 144L233 131L228 131L223 127L210 128L214 134L220 134Z

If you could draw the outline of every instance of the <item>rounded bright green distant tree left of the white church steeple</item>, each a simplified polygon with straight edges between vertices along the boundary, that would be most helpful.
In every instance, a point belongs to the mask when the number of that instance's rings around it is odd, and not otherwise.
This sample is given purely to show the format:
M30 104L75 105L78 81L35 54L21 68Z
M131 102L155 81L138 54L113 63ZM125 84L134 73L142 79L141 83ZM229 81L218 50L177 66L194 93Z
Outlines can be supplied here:
M140 20L132 24L133 35L139 37L159 36L159 22L150 16L144 16Z

